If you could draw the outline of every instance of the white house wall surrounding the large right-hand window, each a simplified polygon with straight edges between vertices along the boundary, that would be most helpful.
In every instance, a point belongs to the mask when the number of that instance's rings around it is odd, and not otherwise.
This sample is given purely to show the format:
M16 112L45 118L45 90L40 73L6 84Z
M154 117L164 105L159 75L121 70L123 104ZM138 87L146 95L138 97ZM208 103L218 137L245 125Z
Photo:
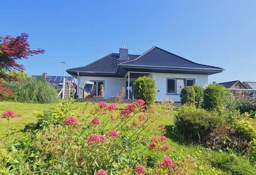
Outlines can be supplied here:
M200 86L204 86L208 82L207 75L198 75L198 74L165 74L165 73L151 73L151 77L156 81L156 88L157 88L157 97L156 100L160 101L164 98L169 98L174 101L181 101L179 94L166 94L167 91L167 84L166 78L188 78L188 79L195 79L195 84Z

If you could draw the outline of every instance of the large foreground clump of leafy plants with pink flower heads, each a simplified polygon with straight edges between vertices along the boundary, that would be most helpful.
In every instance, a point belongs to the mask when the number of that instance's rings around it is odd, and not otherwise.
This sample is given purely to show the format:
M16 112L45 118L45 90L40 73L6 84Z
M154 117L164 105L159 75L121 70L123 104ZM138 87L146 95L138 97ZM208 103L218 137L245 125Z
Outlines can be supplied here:
M163 157L170 156L166 137L151 138L149 143L141 134L158 117L144 104L137 100L118 110L116 105L99 103L81 117L72 114L73 109L63 102L61 111L65 114L58 113L60 107L45 112L44 127L17 138L8 149L17 150L14 159L27 163L5 160L8 166L4 169L10 174L19 174L20 167L26 168L27 174L144 175L154 169L168 174L173 171L170 162L161 163Z

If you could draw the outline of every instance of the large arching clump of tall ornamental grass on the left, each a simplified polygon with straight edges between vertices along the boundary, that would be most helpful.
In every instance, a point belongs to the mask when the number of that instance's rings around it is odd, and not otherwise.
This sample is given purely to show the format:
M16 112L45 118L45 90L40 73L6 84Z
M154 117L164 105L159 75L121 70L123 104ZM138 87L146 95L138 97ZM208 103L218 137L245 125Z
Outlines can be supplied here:
M15 93L18 101L34 103L58 101L57 91L43 77L39 79L30 77L25 82L5 82L5 86Z

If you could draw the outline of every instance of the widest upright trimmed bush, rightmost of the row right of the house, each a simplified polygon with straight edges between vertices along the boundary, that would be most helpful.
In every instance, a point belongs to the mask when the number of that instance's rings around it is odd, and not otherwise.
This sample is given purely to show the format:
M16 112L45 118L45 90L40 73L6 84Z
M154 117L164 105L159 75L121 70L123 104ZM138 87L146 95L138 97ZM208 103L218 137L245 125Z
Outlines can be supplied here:
M224 107L228 94L229 91L222 85L208 85L204 91L204 108L219 111Z

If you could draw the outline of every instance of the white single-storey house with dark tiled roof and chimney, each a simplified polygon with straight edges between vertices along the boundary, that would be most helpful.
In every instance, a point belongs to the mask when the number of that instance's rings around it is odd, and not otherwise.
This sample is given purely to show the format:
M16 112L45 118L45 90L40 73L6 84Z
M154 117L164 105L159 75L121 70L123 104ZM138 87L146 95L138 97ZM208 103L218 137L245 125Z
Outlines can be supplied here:
M128 54L127 48L120 48L119 53L110 53L91 64L66 71L78 80L79 98L84 98L85 94L99 96L102 84L105 99L120 93L122 87L126 88L125 98L132 99L136 78L149 76L156 82L157 101L167 97L179 102L183 87L204 86L209 75L223 70L195 63L154 46L141 55Z

